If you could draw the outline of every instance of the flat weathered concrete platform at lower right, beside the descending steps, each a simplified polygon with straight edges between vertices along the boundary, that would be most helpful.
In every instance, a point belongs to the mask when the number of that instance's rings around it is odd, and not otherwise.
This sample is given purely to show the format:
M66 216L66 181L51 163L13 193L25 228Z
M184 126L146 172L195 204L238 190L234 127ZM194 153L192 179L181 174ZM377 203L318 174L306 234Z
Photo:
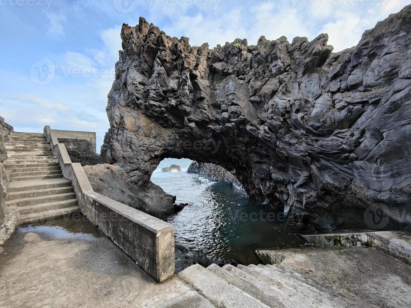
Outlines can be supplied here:
M374 248L294 253L281 263L306 279L377 307L411 306L411 266Z

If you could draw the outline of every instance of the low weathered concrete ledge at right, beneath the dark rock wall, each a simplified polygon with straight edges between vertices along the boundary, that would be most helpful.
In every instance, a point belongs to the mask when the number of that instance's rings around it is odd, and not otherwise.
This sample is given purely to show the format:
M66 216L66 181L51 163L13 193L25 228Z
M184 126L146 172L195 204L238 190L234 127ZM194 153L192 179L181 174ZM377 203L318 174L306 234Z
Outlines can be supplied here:
M343 230L303 237L317 246L374 247L411 264L411 234L406 231Z

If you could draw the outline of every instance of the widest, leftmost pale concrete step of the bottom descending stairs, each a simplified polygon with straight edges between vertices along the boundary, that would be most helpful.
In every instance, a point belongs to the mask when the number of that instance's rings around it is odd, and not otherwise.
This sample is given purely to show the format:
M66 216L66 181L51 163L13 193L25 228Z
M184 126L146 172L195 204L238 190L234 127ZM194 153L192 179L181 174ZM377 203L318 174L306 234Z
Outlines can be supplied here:
M187 267L178 276L217 307L269 307L199 264Z

